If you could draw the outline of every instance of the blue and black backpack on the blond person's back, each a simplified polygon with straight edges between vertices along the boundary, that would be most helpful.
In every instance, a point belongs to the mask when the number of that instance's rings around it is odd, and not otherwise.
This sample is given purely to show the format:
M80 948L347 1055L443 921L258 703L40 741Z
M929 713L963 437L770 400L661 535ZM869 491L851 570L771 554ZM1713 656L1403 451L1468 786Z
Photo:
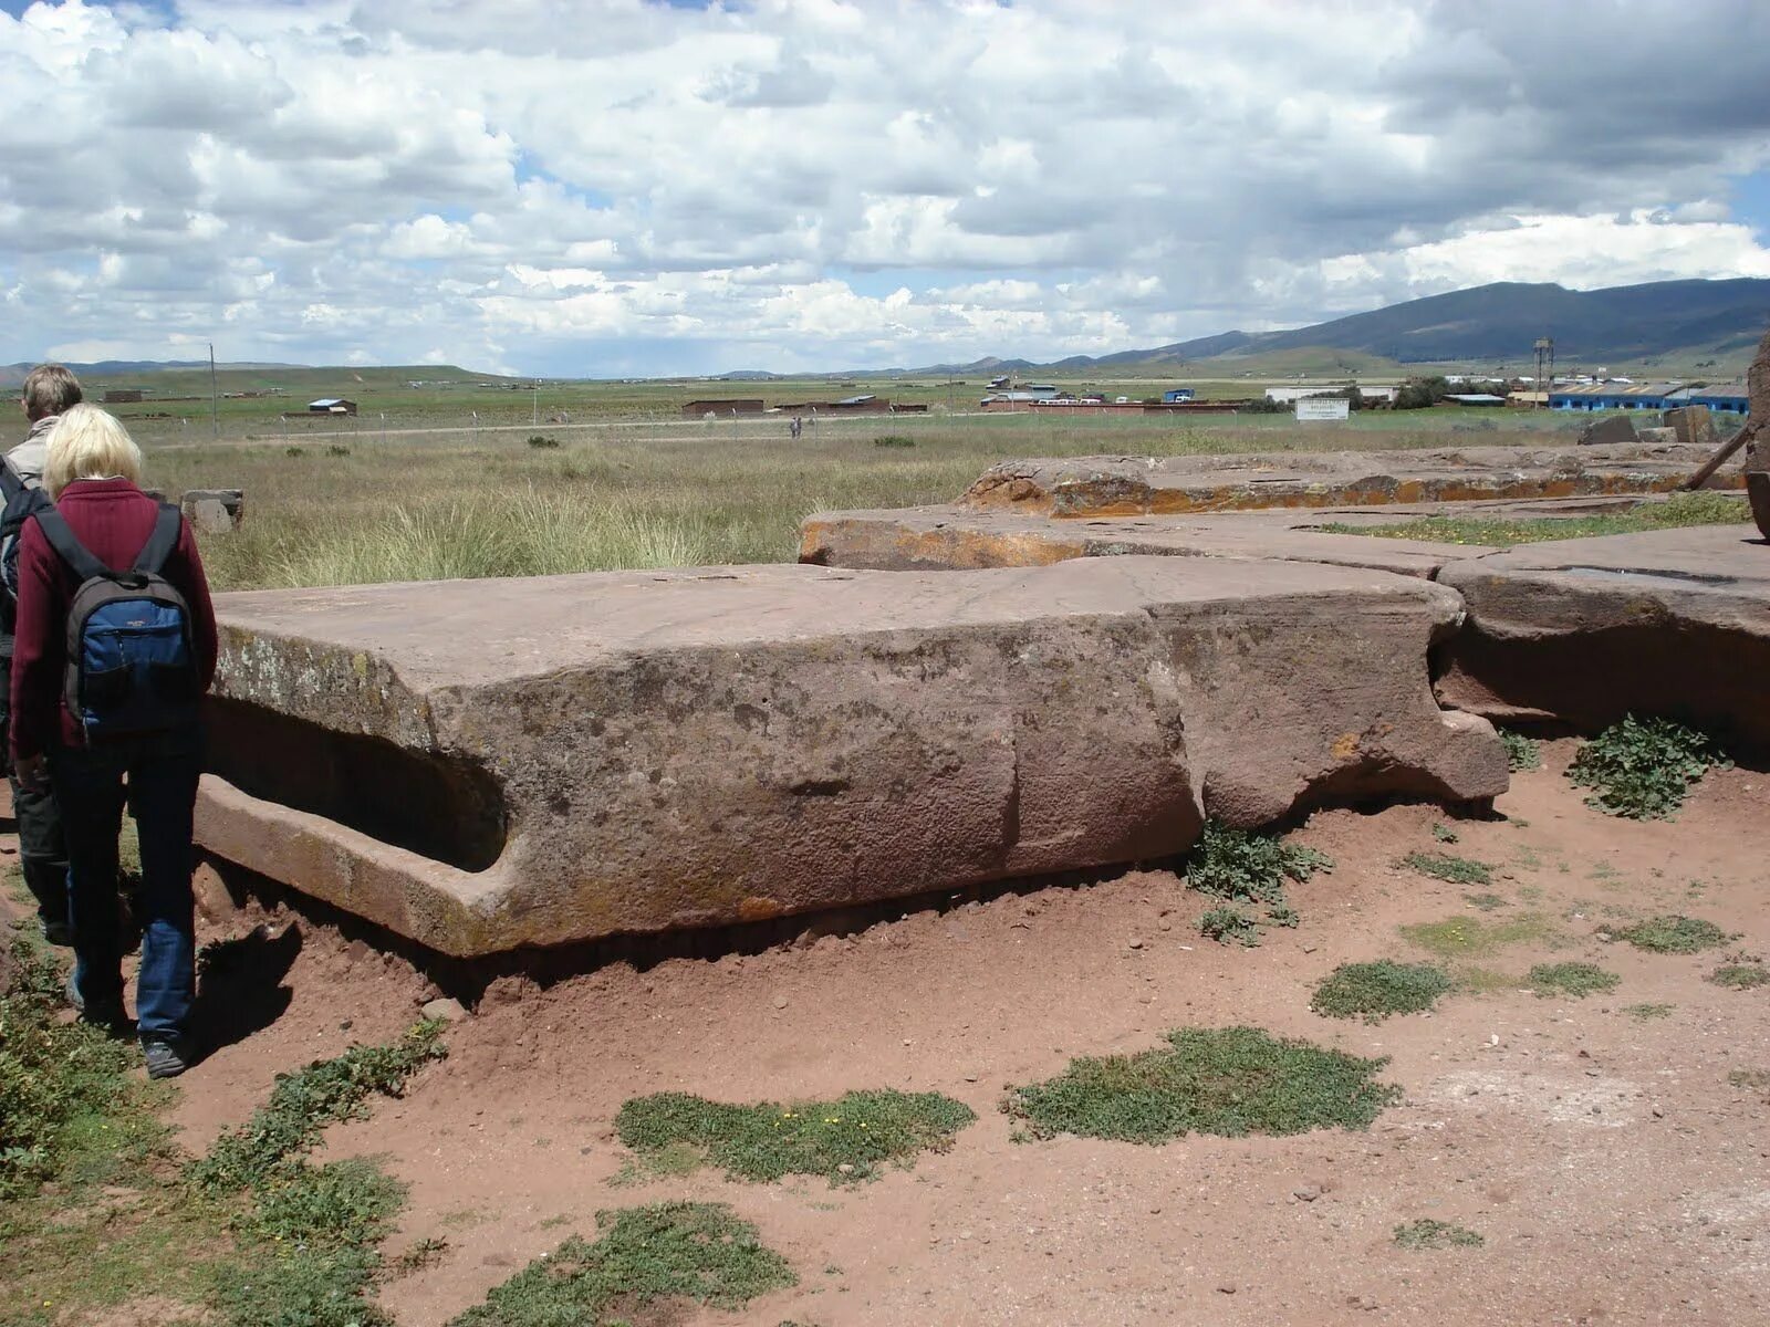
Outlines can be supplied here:
M87 745L195 725L200 695L191 609L159 575L184 529L179 508L161 504L127 571L94 557L60 511L37 511L35 522L80 577L67 609L65 697Z

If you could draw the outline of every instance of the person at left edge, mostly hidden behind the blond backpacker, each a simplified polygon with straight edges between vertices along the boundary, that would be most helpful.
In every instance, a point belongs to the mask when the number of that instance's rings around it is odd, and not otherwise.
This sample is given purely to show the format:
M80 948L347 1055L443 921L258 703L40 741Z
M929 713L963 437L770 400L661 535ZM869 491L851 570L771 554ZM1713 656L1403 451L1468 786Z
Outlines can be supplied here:
M12 633L18 616L18 536L39 506L50 504L42 492L42 464L50 449L50 432L64 410L80 405L80 379L60 364L37 364L25 375L19 405L30 432L0 460L0 667L12 671ZM11 761L11 687L0 687L0 738L12 784L12 819L18 823L18 856L25 886L37 901L37 929L51 945L67 945L73 927L67 918L67 842L55 794L27 787L12 775Z

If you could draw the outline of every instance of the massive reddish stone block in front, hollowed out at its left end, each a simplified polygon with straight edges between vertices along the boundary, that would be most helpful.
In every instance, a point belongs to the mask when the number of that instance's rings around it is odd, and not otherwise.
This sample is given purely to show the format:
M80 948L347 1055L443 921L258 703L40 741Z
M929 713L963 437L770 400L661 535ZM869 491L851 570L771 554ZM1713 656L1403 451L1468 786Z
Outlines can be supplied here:
M198 842L453 955L1492 798L1455 593L1301 563L752 566L218 596Z

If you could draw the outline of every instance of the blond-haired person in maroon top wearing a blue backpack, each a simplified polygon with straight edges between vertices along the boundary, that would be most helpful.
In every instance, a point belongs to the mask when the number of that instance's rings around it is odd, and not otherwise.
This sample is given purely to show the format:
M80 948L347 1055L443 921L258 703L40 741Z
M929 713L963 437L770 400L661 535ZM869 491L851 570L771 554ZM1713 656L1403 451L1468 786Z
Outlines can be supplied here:
M142 492L142 453L104 410L62 414L42 483L57 510L19 534L12 763L27 787L53 786L67 830L67 994L83 1019L113 1028L124 1024L117 832L127 779L142 840L136 1032L147 1072L170 1078L193 1056L196 708L216 667L209 582L189 525Z

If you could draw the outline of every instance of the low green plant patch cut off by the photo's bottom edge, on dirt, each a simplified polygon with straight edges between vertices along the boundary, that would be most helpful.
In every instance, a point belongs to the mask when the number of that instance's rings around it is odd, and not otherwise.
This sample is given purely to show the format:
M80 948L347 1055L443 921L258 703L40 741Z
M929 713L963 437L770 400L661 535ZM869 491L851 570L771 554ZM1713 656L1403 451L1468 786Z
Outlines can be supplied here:
M598 1212L596 1240L573 1235L496 1286L450 1327L616 1327L678 1322L635 1313L666 1300L742 1309L798 1283L793 1269L724 1203Z

